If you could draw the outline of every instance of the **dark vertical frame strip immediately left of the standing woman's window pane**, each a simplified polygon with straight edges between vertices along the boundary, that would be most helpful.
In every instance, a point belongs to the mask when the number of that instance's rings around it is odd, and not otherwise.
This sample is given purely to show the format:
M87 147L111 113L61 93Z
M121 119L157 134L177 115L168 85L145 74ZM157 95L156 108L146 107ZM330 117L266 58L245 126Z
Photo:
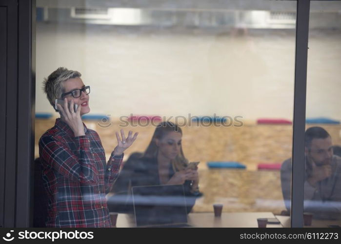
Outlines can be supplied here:
M33 223L36 0L19 0L16 227Z

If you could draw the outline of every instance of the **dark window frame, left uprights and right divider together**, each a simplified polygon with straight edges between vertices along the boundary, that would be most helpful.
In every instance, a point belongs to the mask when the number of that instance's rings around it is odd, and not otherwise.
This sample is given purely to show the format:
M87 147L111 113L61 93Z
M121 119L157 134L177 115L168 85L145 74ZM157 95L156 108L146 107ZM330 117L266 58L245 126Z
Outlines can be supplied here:
M292 227L303 226L304 131L310 0L296 0L296 53L293 122ZM270 3L269 3L270 4ZM35 137L36 0L0 0L12 16L7 21L6 105L0 107L0 225L32 226ZM9 13L9 12L8 12ZM9 136L11 135L11 136ZM3 196L3 198L2 198ZM1 212L1 211L0 211Z

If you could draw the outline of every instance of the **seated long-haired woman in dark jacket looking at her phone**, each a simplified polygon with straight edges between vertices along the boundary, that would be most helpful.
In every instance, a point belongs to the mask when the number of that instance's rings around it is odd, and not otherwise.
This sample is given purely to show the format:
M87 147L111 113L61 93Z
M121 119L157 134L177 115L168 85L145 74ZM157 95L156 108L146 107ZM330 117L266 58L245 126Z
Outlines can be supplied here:
M124 164L119 178L114 183L115 195L108 200L109 210L131 212L131 188L147 185L183 184L187 198L187 212L190 212L199 192L198 163L188 163L181 147L181 128L172 122L161 122L143 156L134 157ZM128 195L126 203L117 204L116 195ZM119 201L120 203L122 201ZM128 202L128 203L127 203Z

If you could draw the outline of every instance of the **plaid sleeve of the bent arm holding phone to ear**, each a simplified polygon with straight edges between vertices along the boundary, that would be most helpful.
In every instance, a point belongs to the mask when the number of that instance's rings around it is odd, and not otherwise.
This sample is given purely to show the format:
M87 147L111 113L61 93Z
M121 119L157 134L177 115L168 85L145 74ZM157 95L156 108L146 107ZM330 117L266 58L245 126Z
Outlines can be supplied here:
M98 170L90 150L90 141L86 136L75 137L76 153L66 142L60 142L52 136L40 139L41 157L48 165L64 177L93 185L99 181Z

